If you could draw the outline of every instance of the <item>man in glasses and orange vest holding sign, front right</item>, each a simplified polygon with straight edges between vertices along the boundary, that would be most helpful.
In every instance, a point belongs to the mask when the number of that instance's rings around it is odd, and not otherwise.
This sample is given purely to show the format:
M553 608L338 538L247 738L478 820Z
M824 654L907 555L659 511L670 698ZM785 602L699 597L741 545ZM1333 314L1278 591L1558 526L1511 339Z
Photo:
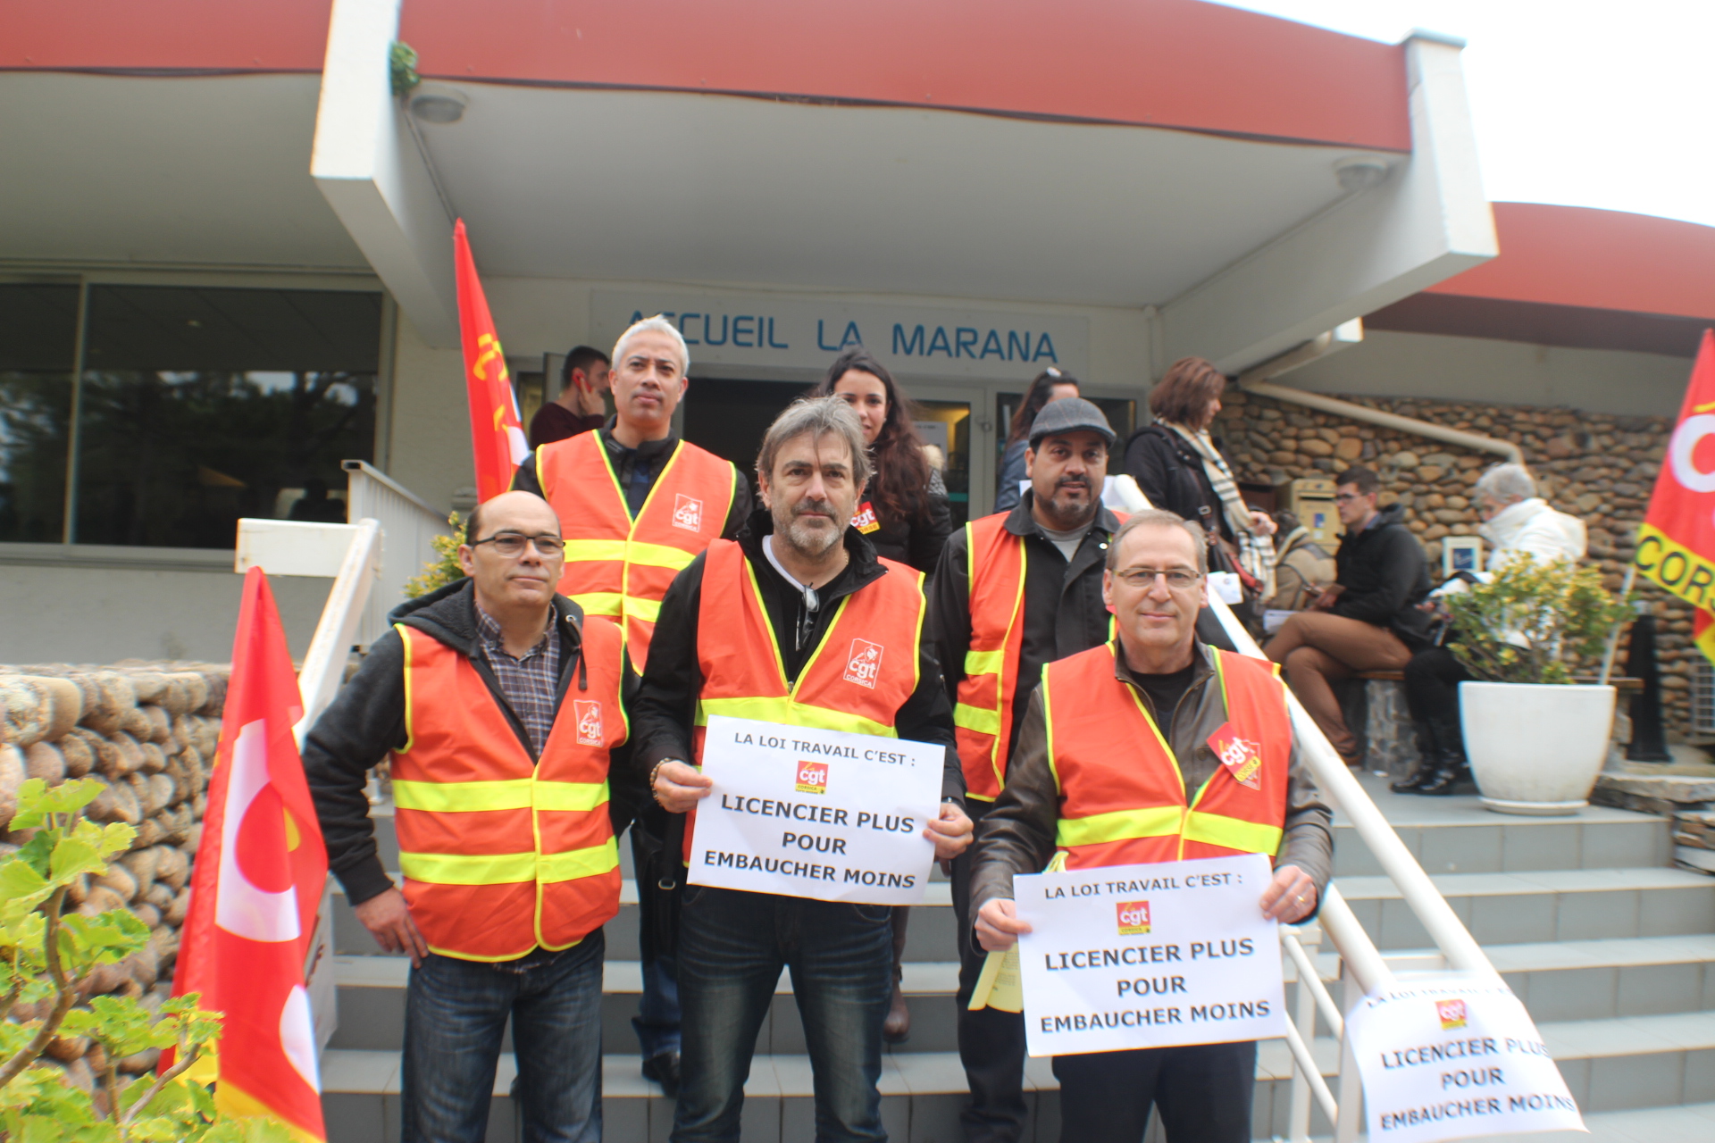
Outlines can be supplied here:
M984 949L1031 931L1012 876L1056 852L1067 869L1267 853L1261 910L1283 924L1315 912L1331 814L1273 665L1197 639L1206 554L1202 528L1156 509L1108 547L1103 591L1118 637L1043 670L1007 788L983 819L971 903ZM1261 766L1223 763L1214 742L1233 737L1257 744ZM1060 1140L1140 1143L1154 1105L1173 1143L1249 1143L1255 1064L1254 1040L1056 1056Z

